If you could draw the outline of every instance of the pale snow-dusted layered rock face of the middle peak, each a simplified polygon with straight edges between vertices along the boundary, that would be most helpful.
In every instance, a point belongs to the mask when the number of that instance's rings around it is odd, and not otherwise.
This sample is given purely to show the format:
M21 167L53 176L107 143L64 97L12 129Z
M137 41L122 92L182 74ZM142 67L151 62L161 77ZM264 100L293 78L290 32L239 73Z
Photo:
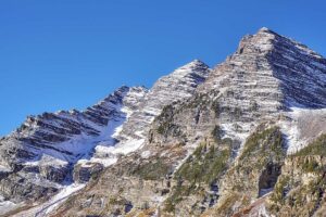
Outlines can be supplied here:
M192 97L197 87L206 79L210 72L208 65L195 60L160 78L145 97L140 110L125 124L121 137L145 138L150 124L161 114L162 108L173 102Z

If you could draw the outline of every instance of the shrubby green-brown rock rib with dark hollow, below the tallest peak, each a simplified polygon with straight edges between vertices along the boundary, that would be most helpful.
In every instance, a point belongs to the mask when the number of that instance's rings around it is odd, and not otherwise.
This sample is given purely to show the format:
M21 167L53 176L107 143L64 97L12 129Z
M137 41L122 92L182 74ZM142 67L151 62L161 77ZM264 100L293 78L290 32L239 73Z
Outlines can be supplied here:
M273 191L286 156L278 127L263 124L247 139L243 151L220 180L220 200L209 216L231 216Z

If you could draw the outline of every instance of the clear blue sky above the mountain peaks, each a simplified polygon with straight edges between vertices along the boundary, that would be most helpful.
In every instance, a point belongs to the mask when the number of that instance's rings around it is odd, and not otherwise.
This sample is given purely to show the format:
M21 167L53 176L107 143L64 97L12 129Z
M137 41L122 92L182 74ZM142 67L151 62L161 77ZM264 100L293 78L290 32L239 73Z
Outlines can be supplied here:
M323 0L2 0L0 136L29 114L85 108L151 87L193 60L213 66L266 26L326 54Z

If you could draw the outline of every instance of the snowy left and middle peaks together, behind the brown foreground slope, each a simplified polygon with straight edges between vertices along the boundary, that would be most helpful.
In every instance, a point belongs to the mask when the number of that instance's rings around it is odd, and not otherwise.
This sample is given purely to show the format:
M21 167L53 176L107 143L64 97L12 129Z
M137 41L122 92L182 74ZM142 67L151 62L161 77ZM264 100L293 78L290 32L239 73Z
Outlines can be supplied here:
M28 117L1 139L2 204L9 204L8 200L33 201L58 191L61 195L72 181L84 184L121 155L139 149L161 110L191 97L209 73L210 68L196 60L159 79L150 91L122 87L84 112ZM24 190L24 186L28 188Z

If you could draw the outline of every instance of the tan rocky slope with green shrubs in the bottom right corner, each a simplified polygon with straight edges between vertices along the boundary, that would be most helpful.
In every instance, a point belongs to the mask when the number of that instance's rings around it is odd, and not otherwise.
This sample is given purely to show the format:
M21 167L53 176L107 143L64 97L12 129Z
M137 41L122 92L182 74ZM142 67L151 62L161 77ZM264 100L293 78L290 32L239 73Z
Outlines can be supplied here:
M285 161L281 176L267 199L278 216L324 216L326 210L326 137Z

